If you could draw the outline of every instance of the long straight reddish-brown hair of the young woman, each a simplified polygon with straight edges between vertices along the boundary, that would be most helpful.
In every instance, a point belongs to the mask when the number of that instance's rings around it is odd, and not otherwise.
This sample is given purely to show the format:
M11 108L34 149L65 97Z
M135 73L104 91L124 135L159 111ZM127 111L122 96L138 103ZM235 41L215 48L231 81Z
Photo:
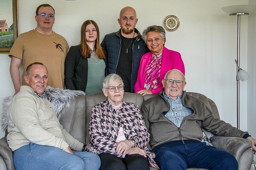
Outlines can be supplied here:
M86 36L85 36L86 26L91 24L91 23L95 26L96 31L97 31L97 38L95 40L96 41L95 42L96 56L99 57L100 59L105 59L105 55L104 55L103 50L102 50L101 45L100 45L100 30L99 30L99 27L96 24L96 22L93 21L93 20L86 20L82 24L82 27L81 27L81 41L80 41L81 53L84 56L84 58L87 58L87 57L90 58L91 57L90 50L93 50L93 49L90 49L89 46L87 46Z

